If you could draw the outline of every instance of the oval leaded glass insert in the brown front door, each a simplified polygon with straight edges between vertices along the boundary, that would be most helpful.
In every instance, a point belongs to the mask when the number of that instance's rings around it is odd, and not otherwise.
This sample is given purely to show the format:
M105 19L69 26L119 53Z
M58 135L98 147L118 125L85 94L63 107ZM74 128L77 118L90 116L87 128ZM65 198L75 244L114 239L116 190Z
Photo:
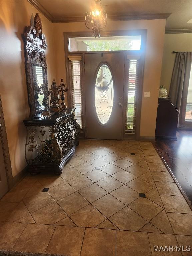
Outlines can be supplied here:
M95 108L99 121L106 124L113 108L113 78L110 68L103 64L95 81Z

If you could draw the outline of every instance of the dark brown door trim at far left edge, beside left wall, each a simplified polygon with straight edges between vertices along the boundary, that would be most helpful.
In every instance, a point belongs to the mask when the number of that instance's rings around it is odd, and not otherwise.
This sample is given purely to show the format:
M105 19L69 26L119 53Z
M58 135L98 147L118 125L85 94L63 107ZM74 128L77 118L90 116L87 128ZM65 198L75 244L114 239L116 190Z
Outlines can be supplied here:
M7 175L7 183L9 190L13 188L13 175L12 175L12 169L11 169L11 160L9 155L9 146L8 146L8 140L7 140L7 133L6 133L6 127L5 127L5 120L3 115L3 107L2 107L2 101L1 101L1 94L0 94L0 135L2 138L2 148L3 148L3 156L5 161L5 170Z

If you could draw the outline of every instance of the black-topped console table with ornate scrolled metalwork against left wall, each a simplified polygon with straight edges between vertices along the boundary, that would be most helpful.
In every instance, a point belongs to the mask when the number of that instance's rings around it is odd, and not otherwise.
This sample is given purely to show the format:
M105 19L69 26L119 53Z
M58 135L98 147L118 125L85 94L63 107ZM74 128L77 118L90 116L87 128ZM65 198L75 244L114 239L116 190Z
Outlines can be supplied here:
M37 114L23 121L27 128L25 158L31 174L45 170L56 175L62 173L79 144L80 126L74 119L74 111L75 108L68 108L64 114L45 118Z

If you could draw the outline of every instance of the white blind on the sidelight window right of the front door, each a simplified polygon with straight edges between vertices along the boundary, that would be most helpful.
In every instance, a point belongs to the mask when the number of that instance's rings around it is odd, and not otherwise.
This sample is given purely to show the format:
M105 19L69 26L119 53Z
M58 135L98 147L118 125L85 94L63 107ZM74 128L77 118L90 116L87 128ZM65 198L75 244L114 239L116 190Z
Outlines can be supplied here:
M139 59L129 59L125 134L135 134L136 107L139 82Z

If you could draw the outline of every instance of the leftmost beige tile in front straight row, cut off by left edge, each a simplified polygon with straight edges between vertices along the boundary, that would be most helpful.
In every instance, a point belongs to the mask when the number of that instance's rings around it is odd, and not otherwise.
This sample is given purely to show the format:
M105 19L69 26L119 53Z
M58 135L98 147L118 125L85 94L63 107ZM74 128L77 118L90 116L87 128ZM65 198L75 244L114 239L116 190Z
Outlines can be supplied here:
M26 226L26 223L4 222L0 226L0 249L11 250Z

